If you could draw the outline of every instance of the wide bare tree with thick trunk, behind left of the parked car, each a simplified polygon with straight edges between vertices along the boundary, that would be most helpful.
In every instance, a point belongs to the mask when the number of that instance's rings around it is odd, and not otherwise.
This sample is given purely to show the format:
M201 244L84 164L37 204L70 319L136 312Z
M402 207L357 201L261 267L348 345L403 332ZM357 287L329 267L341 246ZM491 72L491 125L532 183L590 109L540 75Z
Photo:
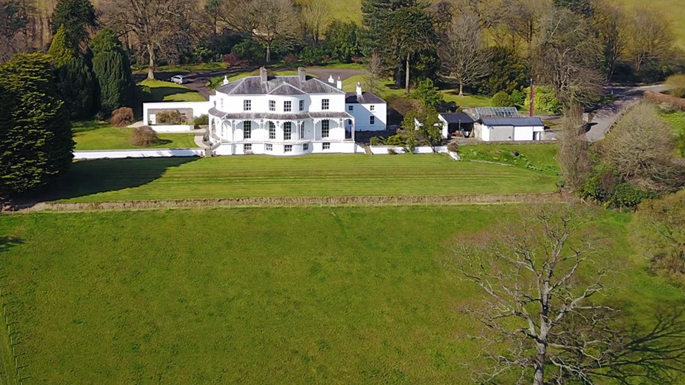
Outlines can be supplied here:
M176 50L192 39L195 3L185 0L107 0L105 20L131 33L148 59L147 78L155 78L157 52Z

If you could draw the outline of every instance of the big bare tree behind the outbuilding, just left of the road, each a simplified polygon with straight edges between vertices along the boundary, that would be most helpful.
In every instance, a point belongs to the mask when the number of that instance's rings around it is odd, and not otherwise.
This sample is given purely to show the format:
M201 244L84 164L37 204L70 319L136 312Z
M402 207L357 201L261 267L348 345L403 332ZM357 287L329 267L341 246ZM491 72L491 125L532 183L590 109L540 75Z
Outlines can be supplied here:
M556 90L567 106L597 98L602 91L600 46L587 20L566 8L543 17L533 72Z

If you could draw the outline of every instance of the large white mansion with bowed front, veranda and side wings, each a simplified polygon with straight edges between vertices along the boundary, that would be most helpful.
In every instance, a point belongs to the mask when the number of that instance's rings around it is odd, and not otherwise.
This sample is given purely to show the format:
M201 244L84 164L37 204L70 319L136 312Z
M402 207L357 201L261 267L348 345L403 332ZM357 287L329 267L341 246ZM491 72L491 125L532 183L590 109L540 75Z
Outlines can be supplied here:
M261 68L259 76L224 78L208 102L146 103L144 117L154 124L160 104L186 115L208 113L217 155L355 153L356 131L386 129L387 104L359 83L356 92L342 88L340 80L324 82L302 68L296 76L269 76Z

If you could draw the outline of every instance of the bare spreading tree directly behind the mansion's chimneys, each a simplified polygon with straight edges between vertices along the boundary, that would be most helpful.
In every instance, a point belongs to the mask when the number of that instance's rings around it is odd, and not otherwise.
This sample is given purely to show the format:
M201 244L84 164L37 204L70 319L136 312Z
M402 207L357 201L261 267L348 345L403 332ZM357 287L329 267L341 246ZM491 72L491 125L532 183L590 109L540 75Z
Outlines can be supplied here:
M266 63L271 63L275 41L287 43L292 39L298 17L292 0L225 1L221 9L221 21L265 47Z

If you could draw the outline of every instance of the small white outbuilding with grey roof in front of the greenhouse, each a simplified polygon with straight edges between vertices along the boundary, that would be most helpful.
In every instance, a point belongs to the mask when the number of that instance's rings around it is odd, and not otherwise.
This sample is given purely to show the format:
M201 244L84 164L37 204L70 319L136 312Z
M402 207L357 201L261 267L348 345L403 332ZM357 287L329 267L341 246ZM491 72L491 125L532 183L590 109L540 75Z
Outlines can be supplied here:
M541 140L544 131L537 117L480 118L473 125L475 137L486 142Z

